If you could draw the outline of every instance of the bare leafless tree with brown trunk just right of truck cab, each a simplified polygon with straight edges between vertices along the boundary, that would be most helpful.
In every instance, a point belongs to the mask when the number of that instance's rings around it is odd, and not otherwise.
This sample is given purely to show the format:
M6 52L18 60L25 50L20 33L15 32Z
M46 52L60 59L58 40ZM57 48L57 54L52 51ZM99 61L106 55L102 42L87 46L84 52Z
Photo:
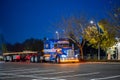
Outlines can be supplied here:
M81 59L83 57L83 47L85 44L84 39L84 29L87 27L87 20L85 17L70 17L63 18L62 22L60 22L57 27L63 31L63 36L72 40L80 49Z

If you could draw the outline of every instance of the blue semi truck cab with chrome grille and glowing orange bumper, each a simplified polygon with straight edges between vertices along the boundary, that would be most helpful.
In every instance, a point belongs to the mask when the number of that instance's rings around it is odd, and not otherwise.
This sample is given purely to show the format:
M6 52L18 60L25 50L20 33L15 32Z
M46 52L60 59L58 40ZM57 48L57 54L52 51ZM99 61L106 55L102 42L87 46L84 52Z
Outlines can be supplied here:
M75 53L74 46L70 47L68 39L50 39L44 41L44 61L63 63L79 62L79 54Z

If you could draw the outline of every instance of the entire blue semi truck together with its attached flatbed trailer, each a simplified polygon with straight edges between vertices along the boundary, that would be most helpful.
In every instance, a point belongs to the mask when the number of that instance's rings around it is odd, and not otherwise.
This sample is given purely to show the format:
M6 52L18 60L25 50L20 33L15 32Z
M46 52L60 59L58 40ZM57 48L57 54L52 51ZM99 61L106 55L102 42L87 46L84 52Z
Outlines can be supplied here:
M68 39L49 39L44 41L42 51L23 51L4 53L4 61L19 62L79 62L79 54L75 53L74 47L70 46Z

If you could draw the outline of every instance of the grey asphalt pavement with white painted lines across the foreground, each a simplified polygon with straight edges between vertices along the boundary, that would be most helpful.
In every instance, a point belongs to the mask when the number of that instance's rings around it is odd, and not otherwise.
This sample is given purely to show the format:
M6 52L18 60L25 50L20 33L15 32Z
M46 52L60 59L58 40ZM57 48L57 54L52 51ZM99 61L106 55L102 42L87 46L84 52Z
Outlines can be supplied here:
M120 63L0 63L0 80L120 80Z

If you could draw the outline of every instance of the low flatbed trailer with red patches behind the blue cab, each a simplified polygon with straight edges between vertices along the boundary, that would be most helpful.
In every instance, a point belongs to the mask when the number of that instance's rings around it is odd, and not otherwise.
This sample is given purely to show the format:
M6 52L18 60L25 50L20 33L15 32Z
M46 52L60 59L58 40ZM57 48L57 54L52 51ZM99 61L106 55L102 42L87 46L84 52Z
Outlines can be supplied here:
M37 51L9 52L3 53L5 62L32 61L32 56L38 56Z

